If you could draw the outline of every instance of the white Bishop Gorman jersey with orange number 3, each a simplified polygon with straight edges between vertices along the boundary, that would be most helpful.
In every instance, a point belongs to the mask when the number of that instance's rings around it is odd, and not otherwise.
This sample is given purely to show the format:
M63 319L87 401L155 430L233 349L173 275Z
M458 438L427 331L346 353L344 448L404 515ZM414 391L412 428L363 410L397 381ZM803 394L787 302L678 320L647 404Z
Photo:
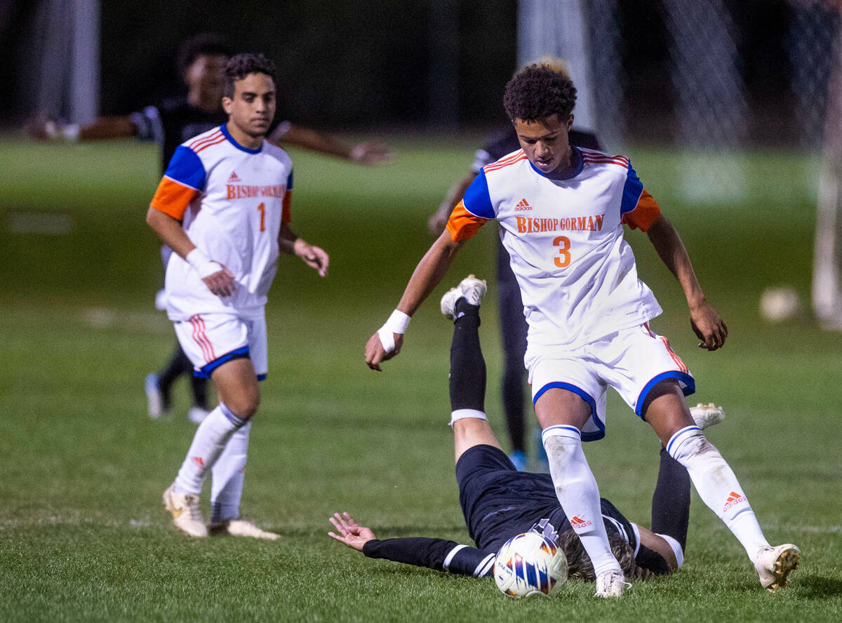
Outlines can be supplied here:
M459 241L498 221L529 323L527 353L576 348L661 312L622 227L646 231L658 204L626 157L573 152L578 168L565 179L540 173L523 150L485 166L447 224Z

